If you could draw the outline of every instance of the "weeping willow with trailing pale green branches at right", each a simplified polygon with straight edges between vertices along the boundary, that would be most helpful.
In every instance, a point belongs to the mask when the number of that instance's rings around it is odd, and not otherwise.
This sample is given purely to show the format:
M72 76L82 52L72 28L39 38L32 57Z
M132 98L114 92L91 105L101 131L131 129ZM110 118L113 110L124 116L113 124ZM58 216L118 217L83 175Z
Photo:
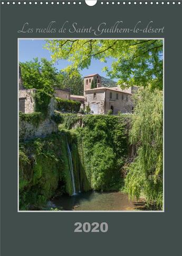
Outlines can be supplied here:
M131 197L143 193L148 204L162 208L162 92L141 90L135 96L130 142L137 145L137 156L128 167L126 190Z

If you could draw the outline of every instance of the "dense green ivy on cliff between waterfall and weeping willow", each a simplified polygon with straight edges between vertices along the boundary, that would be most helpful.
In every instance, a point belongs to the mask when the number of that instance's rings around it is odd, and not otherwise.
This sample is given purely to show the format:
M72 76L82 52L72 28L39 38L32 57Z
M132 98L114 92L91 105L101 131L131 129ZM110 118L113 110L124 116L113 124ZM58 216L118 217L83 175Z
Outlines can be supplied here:
M118 190L120 169L128 154L128 138L124 117L88 115L84 128L78 129L82 145L83 166L94 190Z

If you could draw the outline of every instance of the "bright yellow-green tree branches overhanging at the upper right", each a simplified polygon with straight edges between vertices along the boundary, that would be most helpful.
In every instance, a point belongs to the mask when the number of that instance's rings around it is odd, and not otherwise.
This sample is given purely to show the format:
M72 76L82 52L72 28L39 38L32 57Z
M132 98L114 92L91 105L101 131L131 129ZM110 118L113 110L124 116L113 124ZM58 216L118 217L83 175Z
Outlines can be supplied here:
M74 69L89 68L92 58L106 63L113 58L111 68L104 70L110 78L117 78L121 87L149 85L162 90L162 40L47 40L45 48L51 51L54 61L67 59L71 61L68 68Z

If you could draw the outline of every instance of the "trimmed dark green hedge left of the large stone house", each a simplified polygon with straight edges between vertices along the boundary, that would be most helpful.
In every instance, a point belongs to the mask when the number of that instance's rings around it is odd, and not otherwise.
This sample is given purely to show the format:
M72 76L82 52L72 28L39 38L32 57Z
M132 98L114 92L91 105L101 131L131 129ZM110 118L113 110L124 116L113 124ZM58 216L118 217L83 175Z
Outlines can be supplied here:
M65 112L79 112L81 102L56 98L56 109Z

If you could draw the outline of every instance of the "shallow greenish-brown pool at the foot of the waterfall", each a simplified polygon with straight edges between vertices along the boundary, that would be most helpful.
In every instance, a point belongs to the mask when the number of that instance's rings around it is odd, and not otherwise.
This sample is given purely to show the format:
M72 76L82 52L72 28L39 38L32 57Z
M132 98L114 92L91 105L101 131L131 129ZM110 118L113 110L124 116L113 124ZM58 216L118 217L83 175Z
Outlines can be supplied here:
M62 210L135 210L135 202L121 192L82 192L52 200Z

